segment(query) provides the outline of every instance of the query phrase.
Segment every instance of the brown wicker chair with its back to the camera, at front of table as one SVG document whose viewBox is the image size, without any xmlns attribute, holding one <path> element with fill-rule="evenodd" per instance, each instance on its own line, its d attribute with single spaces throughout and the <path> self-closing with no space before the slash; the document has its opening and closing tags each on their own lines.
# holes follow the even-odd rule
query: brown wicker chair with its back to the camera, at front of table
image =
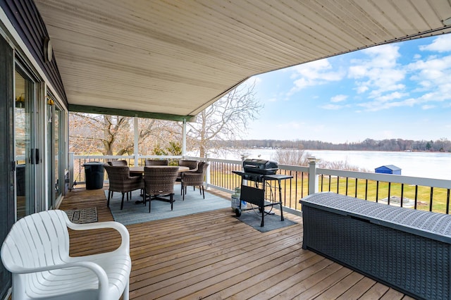
<svg viewBox="0 0 451 300">
<path fill-rule="evenodd" d="M 144 167 L 144 193 L 142 201 L 144 205 L 149 201 L 149 213 L 151 210 L 152 200 L 161 200 L 171 203 L 171 211 L 173 210 L 174 183 L 177 178 L 178 166 L 168 165 L 167 167 L 152 168 Z M 147 198 L 149 195 L 149 199 Z M 169 196 L 169 199 L 161 198 L 161 196 Z"/>
</svg>

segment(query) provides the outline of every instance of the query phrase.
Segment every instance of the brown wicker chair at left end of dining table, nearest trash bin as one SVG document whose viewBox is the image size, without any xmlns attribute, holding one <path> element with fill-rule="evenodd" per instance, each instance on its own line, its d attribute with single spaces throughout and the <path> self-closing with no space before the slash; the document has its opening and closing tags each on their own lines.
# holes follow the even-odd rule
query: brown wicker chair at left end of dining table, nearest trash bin
<svg viewBox="0 0 451 300">
<path fill-rule="evenodd" d="M 143 188 L 142 176 L 130 176 L 130 169 L 127 166 L 104 165 L 109 177 L 108 201 L 106 206 L 110 206 L 110 199 L 113 192 L 122 193 L 121 210 L 124 206 L 124 194 L 135 189 Z M 127 194 L 128 201 L 128 194 Z"/>
</svg>

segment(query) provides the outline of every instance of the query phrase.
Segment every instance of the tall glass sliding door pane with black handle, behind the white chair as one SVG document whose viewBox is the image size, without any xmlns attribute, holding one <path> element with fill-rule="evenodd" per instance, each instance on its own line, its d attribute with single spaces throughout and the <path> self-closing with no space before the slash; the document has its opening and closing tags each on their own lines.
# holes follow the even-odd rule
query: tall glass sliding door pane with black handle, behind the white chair
<svg viewBox="0 0 451 300">
<path fill-rule="evenodd" d="M 16 213 L 17 219 L 35 212 L 35 95 L 34 83 L 16 70 L 16 105 L 14 110 L 14 139 L 16 155 Z"/>
</svg>

